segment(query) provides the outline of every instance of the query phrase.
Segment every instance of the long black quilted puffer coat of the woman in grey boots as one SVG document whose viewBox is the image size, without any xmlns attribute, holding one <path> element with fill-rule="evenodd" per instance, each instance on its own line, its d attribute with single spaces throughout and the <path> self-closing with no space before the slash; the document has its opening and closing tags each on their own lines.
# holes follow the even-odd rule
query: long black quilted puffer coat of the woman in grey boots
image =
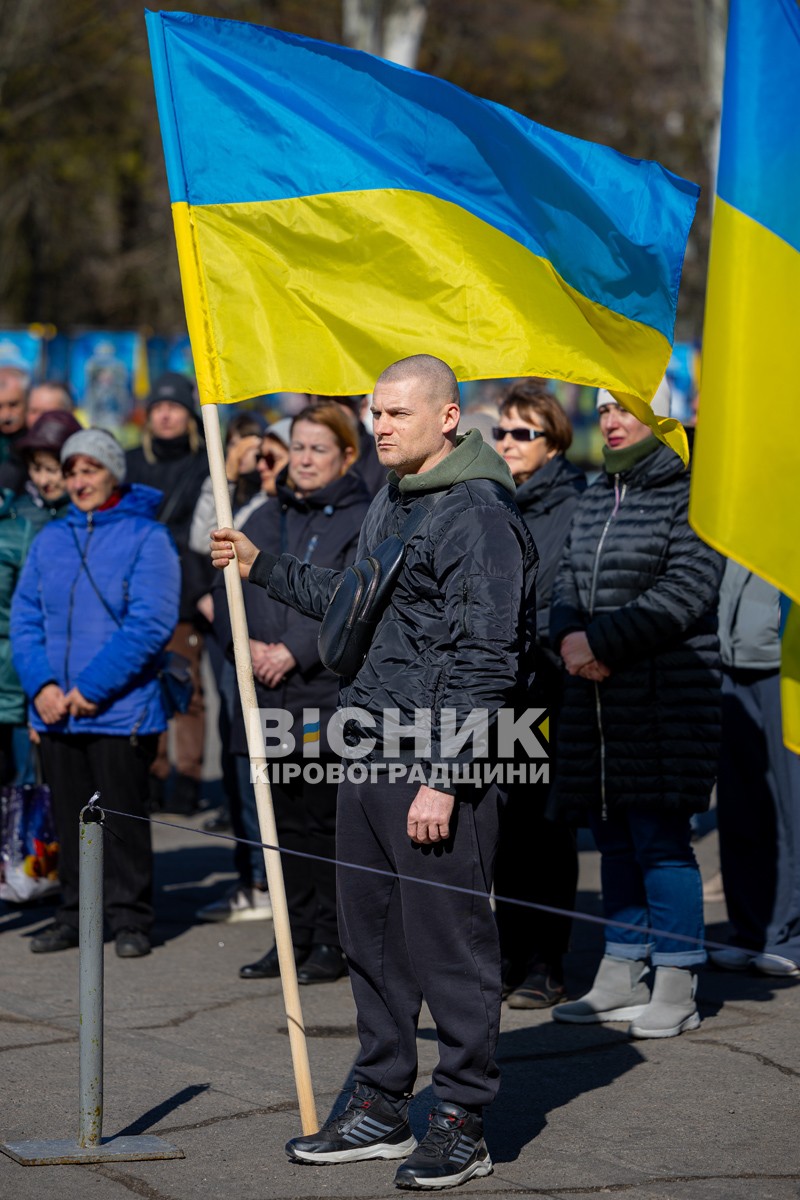
<svg viewBox="0 0 800 1200">
<path fill-rule="evenodd" d="M 666 446 L 583 494 L 555 580 L 551 640 L 571 630 L 612 674 L 566 676 L 557 811 L 708 808 L 720 745 L 716 605 L 723 559 L 688 526 L 688 473 Z"/>
</svg>

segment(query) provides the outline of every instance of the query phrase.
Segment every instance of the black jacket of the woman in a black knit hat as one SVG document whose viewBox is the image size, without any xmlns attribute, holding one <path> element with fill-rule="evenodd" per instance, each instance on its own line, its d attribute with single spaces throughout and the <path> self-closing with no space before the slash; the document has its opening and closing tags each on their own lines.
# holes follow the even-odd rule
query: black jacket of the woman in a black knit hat
<svg viewBox="0 0 800 1200">
<path fill-rule="evenodd" d="M 142 446 L 128 450 L 125 479 L 128 484 L 146 484 L 164 493 L 156 520 L 172 533 L 181 559 L 179 619 L 197 622 L 196 605 L 211 589 L 213 569 L 207 556 L 190 550 L 188 538 L 194 505 L 209 474 L 209 460 L 204 449 L 192 454 L 187 437 L 154 438 L 152 451 L 155 462 L 148 462 Z"/>
</svg>

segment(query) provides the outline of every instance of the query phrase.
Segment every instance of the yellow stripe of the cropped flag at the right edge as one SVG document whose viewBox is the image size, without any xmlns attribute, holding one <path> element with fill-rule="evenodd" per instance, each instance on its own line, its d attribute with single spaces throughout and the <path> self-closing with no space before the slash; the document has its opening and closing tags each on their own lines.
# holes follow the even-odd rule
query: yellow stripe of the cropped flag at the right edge
<svg viewBox="0 0 800 1200">
<path fill-rule="evenodd" d="M 717 199 L 690 518 L 800 601 L 800 253 Z"/>
</svg>

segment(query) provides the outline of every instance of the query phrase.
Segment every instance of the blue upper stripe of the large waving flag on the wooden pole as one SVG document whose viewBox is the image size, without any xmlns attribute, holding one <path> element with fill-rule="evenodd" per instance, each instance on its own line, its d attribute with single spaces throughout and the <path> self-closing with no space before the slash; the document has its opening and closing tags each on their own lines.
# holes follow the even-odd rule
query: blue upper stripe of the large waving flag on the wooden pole
<svg viewBox="0 0 800 1200">
<path fill-rule="evenodd" d="M 672 340 L 697 187 L 372 55 L 186 13 L 149 14 L 173 202 L 405 188 L 468 209 L 589 299 Z"/>
</svg>

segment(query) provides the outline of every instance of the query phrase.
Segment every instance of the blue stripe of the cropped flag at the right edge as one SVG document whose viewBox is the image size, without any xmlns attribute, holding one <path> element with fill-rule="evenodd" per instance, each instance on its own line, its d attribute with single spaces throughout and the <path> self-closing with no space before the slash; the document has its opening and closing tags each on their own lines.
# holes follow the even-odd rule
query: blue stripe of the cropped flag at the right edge
<svg viewBox="0 0 800 1200">
<path fill-rule="evenodd" d="M 733 0 L 717 193 L 800 251 L 800 7 Z"/>
</svg>

